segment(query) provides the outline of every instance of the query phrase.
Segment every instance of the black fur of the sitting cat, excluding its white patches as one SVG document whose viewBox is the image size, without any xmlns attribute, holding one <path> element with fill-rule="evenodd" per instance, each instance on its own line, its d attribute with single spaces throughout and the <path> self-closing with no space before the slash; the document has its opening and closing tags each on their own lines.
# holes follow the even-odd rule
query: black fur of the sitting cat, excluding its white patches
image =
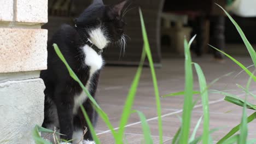
<svg viewBox="0 0 256 144">
<path fill-rule="evenodd" d="M 88 31 L 104 27 L 104 34 L 114 43 L 123 35 L 124 21 L 121 10 L 126 2 L 117 5 L 104 5 L 101 0 L 95 0 L 77 19 L 75 26 L 62 25 L 48 41 L 48 69 L 40 73 L 45 83 L 45 104 L 43 127 L 60 129 L 61 139 L 72 140 L 73 131 L 88 128 L 82 111 L 73 113 L 75 95 L 82 93 L 82 88 L 69 76 L 68 70 L 56 55 L 53 44 L 56 43 L 68 64 L 82 81 L 88 83 L 90 67 L 85 65 L 86 53 L 81 50 L 89 38 Z M 95 97 L 100 70 L 91 79 L 90 94 Z M 83 102 L 91 122 L 95 125 L 97 113 L 92 108 L 89 99 Z M 92 140 L 90 130 L 84 135 L 84 140 Z"/>
</svg>

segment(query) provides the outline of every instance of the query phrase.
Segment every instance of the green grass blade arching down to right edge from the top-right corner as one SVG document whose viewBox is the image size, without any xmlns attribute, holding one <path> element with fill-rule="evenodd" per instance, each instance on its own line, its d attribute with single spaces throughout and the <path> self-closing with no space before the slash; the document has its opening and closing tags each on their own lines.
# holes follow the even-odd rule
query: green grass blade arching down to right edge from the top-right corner
<svg viewBox="0 0 256 144">
<path fill-rule="evenodd" d="M 217 4 L 218 5 L 218 4 Z M 240 34 L 243 43 L 245 43 L 246 48 L 248 50 L 248 52 L 251 55 L 252 61 L 254 63 L 254 67 L 256 68 L 256 52 L 253 49 L 252 45 L 249 43 L 249 41 L 247 40 L 245 34 L 243 33 L 242 29 L 240 28 L 240 26 L 238 26 L 238 24 L 236 23 L 236 21 L 229 15 L 228 12 L 225 11 L 225 9 L 223 9 L 220 5 L 218 5 L 225 13 L 226 15 L 229 17 L 230 21 L 234 24 L 234 26 L 236 27 L 238 33 Z"/>
</svg>

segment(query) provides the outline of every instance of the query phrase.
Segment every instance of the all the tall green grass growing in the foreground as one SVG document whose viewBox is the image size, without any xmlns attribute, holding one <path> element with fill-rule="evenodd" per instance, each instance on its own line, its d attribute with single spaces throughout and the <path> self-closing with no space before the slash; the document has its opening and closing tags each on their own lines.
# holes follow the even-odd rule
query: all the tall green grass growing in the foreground
<svg viewBox="0 0 256 144">
<path fill-rule="evenodd" d="M 225 11 L 225 13 L 226 13 L 226 11 Z M 245 34 L 243 34 L 241 28 L 237 25 L 237 23 L 232 19 L 232 17 L 228 13 L 226 13 L 226 14 L 229 16 L 230 20 L 236 26 L 237 31 L 240 33 L 241 38 L 245 42 L 245 45 L 246 45 L 246 47 L 247 47 L 247 49 L 248 49 L 248 51 L 249 51 L 249 53 L 252 57 L 254 65 L 256 67 L 256 53 L 255 53 L 254 49 L 252 48 L 251 44 L 249 44 L 249 42 L 246 39 Z M 103 121 L 108 126 L 109 130 L 111 131 L 111 133 L 114 137 L 115 143 L 118 143 L 118 144 L 119 143 L 125 143 L 124 142 L 124 140 L 125 140 L 125 137 L 124 137 L 125 125 L 127 124 L 127 121 L 129 119 L 131 113 L 133 112 L 132 105 L 133 105 L 133 101 L 135 99 L 139 79 L 140 79 L 140 76 L 141 76 L 141 73 L 142 73 L 142 69 L 143 69 L 142 66 L 143 66 L 143 63 L 144 63 L 144 59 L 146 57 L 149 60 L 150 70 L 152 72 L 152 78 L 153 78 L 153 83 L 154 83 L 156 110 L 158 112 L 159 143 L 163 143 L 163 139 L 162 139 L 162 120 L 161 120 L 161 104 L 160 104 L 158 83 L 157 83 L 157 80 L 156 80 L 156 75 L 155 75 L 155 70 L 154 70 L 154 65 L 153 65 L 153 59 L 152 59 L 152 55 L 151 55 L 151 52 L 150 52 L 146 27 L 144 25 L 141 9 L 139 9 L 139 15 L 141 17 L 141 26 L 142 26 L 142 35 L 143 35 L 144 47 L 143 47 L 143 52 L 142 52 L 142 56 L 141 56 L 141 62 L 140 62 L 139 67 L 137 69 L 136 75 L 135 75 L 135 77 L 132 81 L 130 91 L 127 94 L 127 99 L 126 99 L 125 105 L 123 107 L 123 113 L 120 117 L 119 129 L 114 129 L 113 128 L 113 125 L 110 123 L 107 114 L 100 108 L 100 106 L 96 103 L 94 98 L 91 97 L 88 90 L 83 86 L 82 82 L 80 82 L 78 77 L 75 75 L 74 71 L 69 67 L 65 58 L 61 54 L 61 52 L 59 50 L 59 47 L 56 44 L 54 44 L 54 49 L 55 49 L 57 55 L 62 60 L 62 62 L 66 65 L 66 67 L 69 71 L 69 74 L 71 75 L 71 77 L 75 81 L 77 81 L 79 83 L 79 85 L 83 88 L 85 93 L 88 95 L 88 98 L 90 99 L 91 104 L 94 106 L 98 115 L 103 119 Z M 174 135 L 172 143 L 181 143 L 181 144 L 183 144 L 183 143 L 191 143 L 192 144 L 192 143 L 200 143 L 200 142 L 202 142 L 202 143 L 213 143 L 212 138 L 211 138 L 211 134 L 214 131 L 217 131 L 218 128 L 212 129 L 212 130 L 210 130 L 210 128 L 209 128 L 210 114 L 209 114 L 209 108 L 208 108 L 209 107 L 209 105 L 208 105 L 208 93 L 217 93 L 217 94 L 225 95 L 225 100 L 226 101 L 243 107 L 243 114 L 242 114 L 242 118 L 241 118 L 241 123 L 238 124 L 236 127 L 234 127 L 232 130 L 230 130 L 229 133 L 226 134 L 225 136 L 223 136 L 223 138 L 220 139 L 217 143 L 236 143 L 236 142 L 237 143 L 254 143 L 254 142 L 256 142 L 256 139 L 247 140 L 247 133 L 248 133 L 247 123 L 252 122 L 256 118 L 256 112 L 254 112 L 249 117 L 247 117 L 247 115 L 246 115 L 246 108 L 256 110 L 256 105 L 253 105 L 253 104 L 249 103 L 247 101 L 247 99 L 243 100 L 241 98 L 238 98 L 236 95 L 232 95 L 230 93 L 220 92 L 220 91 L 216 91 L 216 90 L 211 91 L 211 90 L 208 89 L 208 88 L 210 88 L 210 86 L 214 82 L 218 81 L 220 78 L 214 80 L 212 83 L 207 85 L 206 78 L 203 75 L 203 71 L 202 71 L 200 65 L 192 62 L 191 55 L 190 55 L 190 45 L 191 45 L 192 41 L 194 40 L 194 38 L 195 37 L 193 37 L 189 41 L 189 43 L 186 39 L 184 40 L 184 52 L 185 52 L 185 88 L 184 88 L 184 91 L 183 92 L 172 93 L 172 94 L 167 94 L 163 97 L 163 98 L 166 98 L 166 97 L 173 97 L 173 96 L 177 96 L 177 95 L 184 95 L 182 125 L 181 125 L 181 127 L 179 127 L 178 131 Z M 213 48 L 216 49 L 215 47 L 213 47 Z M 216 49 L 216 50 L 218 50 L 218 49 Z M 222 51 L 220 51 L 220 52 L 222 52 Z M 224 53 L 224 52 L 222 52 L 222 53 Z M 239 88 L 241 88 L 241 90 L 243 92 L 245 92 L 248 96 L 253 96 L 254 98 L 256 98 L 256 96 L 254 94 L 249 92 L 249 86 L 250 86 L 251 80 L 253 79 L 254 81 L 256 81 L 256 76 L 254 75 L 254 73 L 249 71 L 243 64 L 238 62 L 235 58 L 232 58 L 231 56 L 229 56 L 226 53 L 224 53 L 224 55 L 228 56 L 232 61 L 234 61 L 237 65 L 239 65 L 249 75 L 250 78 L 248 80 L 246 88 L 243 88 L 240 85 L 237 85 L 237 86 Z M 193 65 L 195 67 L 197 77 L 199 79 L 199 84 L 200 84 L 200 90 L 199 91 L 194 91 L 193 90 L 193 79 L 194 79 L 193 70 L 192 70 Z M 203 116 L 198 120 L 197 124 L 195 125 L 193 133 L 190 134 L 190 130 L 191 130 L 190 123 L 191 123 L 192 110 L 193 110 L 193 107 L 195 106 L 195 104 L 197 103 L 197 101 L 199 100 L 199 99 L 196 99 L 196 100 L 193 101 L 193 95 L 194 94 L 200 94 L 201 95 L 201 97 L 199 97 L 199 98 L 201 98 L 201 101 L 202 101 Z M 96 143 L 101 143 L 100 140 L 98 139 L 98 137 L 95 133 L 95 130 L 91 125 L 90 119 L 88 118 L 88 115 L 87 115 L 87 113 L 84 110 L 84 107 L 82 105 L 81 105 L 81 109 L 84 113 L 86 122 L 88 122 L 88 124 L 89 124 L 89 128 L 91 130 L 91 133 L 94 137 L 95 142 Z M 135 110 L 135 112 L 138 114 L 139 118 L 141 119 L 143 135 L 144 135 L 144 141 L 143 142 L 147 143 L 147 144 L 148 143 L 149 144 L 153 143 L 153 139 L 152 139 L 152 136 L 150 134 L 150 128 L 149 128 L 149 125 L 147 123 L 146 116 L 140 111 Z M 198 136 L 198 137 L 195 137 L 197 129 L 199 128 L 199 125 L 200 125 L 202 119 L 203 119 L 203 134 Z M 237 131 L 239 131 L 239 130 L 240 130 L 240 134 L 236 134 Z M 50 142 L 47 142 L 47 141 L 43 140 L 40 137 L 39 132 L 46 132 L 46 133 L 51 133 L 53 135 L 59 135 L 55 131 L 47 130 L 47 129 L 44 129 L 44 128 L 39 127 L 37 125 L 33 129 L 33 138 L 34 138 L 36 143 L 47 143 L 47 144 L 50 143 Z"/>
</svg>

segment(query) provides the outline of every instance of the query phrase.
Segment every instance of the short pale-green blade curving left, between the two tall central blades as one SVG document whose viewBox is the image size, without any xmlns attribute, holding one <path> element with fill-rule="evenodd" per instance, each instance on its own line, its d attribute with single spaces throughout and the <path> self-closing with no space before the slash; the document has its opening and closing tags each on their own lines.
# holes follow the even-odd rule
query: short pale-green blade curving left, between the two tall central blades
<svg viewBox="0 0 256 144">
<path fill-rule="evenodd" d="M 140 111 L 136 111 L 136 112 L 138 113 L 139 118 L 141 119 L 141 125 L 142 125 L 143 134 L 144 134 L 144 142 L 147 144 L 153 144 L 150 129 L 149 129 L 145 115 Z"/>
</svg>

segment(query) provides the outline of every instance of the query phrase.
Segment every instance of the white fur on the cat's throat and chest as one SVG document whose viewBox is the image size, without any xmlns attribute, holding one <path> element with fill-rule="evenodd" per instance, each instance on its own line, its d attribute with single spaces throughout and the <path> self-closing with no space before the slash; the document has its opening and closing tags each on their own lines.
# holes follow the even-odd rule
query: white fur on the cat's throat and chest
<svg viewBox="0 0 256 144">
<path fill-rule="evenodd" d="M 104 36 L 105 35 L 104 31 L 102 31 L 100 27 L 96 29 L 92 29 L 89 32 L 89 35 L 92 43 L 94 43 L 99 49 L 103 49 L 109 43 L 108 39 Z M 81 49 L 83 50 L 85 55 L 85 59 L 84 59 L 85 65 L 88 65 L 90 67 L 89 80 L 85 85 L 87 89 L 90 89 L 90 86 L 94 84 L 94 83 L 91 83 L 92 76 L 94 76 L 94 73 L 97 70 L 102 68 L 104 61 L 102 59 L 102 56 L 98 55 L 98 53 L 94 49 L 92 49 L 90 46 L 84 45 L 83 47 L 81 47 Z M 77 110 L 80 104 L 84 103 L 86 98 L 87 98 L 87 95 L 84 92 L 75 96 L 74 109 L 73 109 L 74 114 L 77 113 Z"/>
</svg>

